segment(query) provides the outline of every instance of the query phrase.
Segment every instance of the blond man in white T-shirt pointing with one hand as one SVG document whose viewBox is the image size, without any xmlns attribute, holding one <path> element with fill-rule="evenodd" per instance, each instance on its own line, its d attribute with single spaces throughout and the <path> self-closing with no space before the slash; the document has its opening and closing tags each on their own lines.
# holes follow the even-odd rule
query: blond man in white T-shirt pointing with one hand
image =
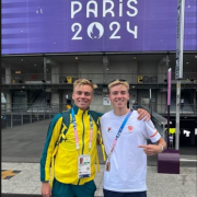
<svg viewBox="0 0 197 197">
<path fill-rule="evenodd" d="M 129 84 L 115 80 L 108 84 L 113 111 L 101 118 L 107 153 L 104 197 L 147 197 L 147 154 L 162 152 L 165 141 L 152 121 L 138 120 L 137 111 L 127 108 Z M 150 139 L 155 144 L 147 144 Z"/>
</svg>

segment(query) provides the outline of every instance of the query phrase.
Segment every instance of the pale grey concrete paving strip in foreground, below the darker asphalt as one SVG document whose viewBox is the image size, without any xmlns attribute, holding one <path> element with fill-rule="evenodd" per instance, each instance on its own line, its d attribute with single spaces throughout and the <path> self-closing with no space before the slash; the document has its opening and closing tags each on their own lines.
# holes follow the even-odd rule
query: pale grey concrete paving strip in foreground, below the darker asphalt
<svg viewBox="0 0 197 197">
<path fill-rule="evenodd" d="M 40 195 L 39 164 L 38 163 L 10 163 L 2 162 L 2 170 L 13 170 L 19 173 L 10 179 L 2 179 L 2 193 Z M 103 171 L 96 174 L 95 196 L 103 196 Z M 196 197 L 195 167 L 181 167 L 179 174 L 159 174 L 157 166 L 148 166 L 147 185 L 148 197 Z"/>
</svg>

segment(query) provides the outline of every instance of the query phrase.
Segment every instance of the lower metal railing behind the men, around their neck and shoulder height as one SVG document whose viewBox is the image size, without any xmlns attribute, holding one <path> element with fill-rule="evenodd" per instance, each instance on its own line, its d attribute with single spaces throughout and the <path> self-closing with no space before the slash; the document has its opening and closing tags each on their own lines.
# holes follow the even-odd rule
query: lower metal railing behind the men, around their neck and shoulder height
<svg viewBox="0 0 197 197">
<path fill-rule="evenodd" d="M 10 107 L 8 107 L 10 106 Z M 12 107 L 14 106 L 14 107 Z M 157 113 L 160 115 L 167 115 L 166 104 L 142 104 L 144 108 L 149 108 L 150 113 Z M 181 106 L 179 106 L 181 107 Z M 2 103 L 1 104 L 1 128 L 13 127 L 18 125 L 30 124 L 39 121 L 43 119 L 50 119 L 55 114 L 67 111 L 67 104 L 39 104 L 34 105 L 32 103 Z M 105 112 L 101 112 L 105 113 Z M 171 105 L 171 115 L 176 114 L 176 106 Z M 197 105 L 185 104 L 181 107 L 181 116 L 195 115 L 197 116 Z"/>
</svg>

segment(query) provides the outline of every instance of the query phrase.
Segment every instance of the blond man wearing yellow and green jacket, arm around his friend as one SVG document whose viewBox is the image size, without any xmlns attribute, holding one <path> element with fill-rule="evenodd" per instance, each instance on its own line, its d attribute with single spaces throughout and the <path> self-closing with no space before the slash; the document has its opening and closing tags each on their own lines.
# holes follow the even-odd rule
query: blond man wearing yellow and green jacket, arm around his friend
<svg viewBox="0 0 197 197">
<path fill-rule="evenodd" d="M 97 124 L 102 116 L 90 111 L 94 89 L 95 84 L 86 79 L 74 81 L 74 106 L 67 112 L 69 126 L 65 124 L 65 113 L 57 114 L 50 121 L 40 159 L 44 197 L 94 196 L 96 138 L 100 134 Z M 149 116 L 143 109 L 139 109 L 139 118 Z"/>
</svg>

